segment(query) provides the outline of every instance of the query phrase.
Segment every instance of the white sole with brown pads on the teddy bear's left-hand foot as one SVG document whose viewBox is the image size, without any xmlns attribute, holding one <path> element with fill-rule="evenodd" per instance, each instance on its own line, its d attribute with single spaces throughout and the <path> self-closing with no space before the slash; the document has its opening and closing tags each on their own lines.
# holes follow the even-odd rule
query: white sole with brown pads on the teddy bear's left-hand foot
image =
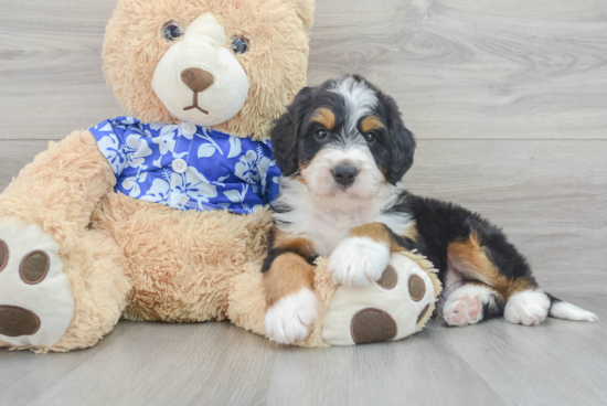
<svg viewBox="0 0 607 406">
<path fill-rule="evenodd" d="M 58 244 L 40 227 L 0 221 L 0 341 L 50 346 L 74 314 Z"/>
</svg>

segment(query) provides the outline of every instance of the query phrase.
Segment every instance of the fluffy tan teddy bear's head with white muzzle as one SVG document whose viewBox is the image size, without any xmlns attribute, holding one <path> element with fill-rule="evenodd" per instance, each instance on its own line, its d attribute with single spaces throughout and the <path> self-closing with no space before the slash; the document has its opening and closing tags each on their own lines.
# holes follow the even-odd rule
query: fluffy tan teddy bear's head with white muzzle
<svg viewBox="0 0 607 406">
<path fill-rule="evenodd" d="M 119 0 L 104 70 L 145 122 L 266 139 L 306 85 L 313 0 Z"/>
</svg>

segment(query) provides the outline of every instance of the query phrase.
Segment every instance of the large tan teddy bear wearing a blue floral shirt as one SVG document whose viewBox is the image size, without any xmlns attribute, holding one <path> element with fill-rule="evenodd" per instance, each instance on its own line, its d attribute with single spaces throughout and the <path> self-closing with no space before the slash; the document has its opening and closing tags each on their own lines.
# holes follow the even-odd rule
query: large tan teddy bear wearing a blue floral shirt
<svg viewBox="0 0 607 406">
<path fill-rule="evenodd" d="M 120 318 L 265 334 L 268 135 L 306 85 L 312 17 L 313 0 L 118 1 L 104 72 L 130 116 L 51 142 L 0 195 L 0 346 L 85 349 Z M 402 339 L 440 290 L 416 253 L 363 289 L 326 265 L 297 345 Z"/>
</svg>

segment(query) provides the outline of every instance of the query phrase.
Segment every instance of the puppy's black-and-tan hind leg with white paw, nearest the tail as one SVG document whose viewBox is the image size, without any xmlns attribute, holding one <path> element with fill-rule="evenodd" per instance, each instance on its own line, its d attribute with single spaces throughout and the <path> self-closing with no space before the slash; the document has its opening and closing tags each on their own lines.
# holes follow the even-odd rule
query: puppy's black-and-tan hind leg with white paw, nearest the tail
<svg viewBox="0 0 607 406">
<path fill-rule="evenodd" d="M 507 321 L 540 324 L 547 317 L 551 302 L 547 295 L 539 289 L 524 258 L 505 242 L 503 235 L 482 239 L 473 229 L 467 238 L 449 244 L 449 268 L 500 293 L 505 301 L 503 314 Z"/>
</svg>

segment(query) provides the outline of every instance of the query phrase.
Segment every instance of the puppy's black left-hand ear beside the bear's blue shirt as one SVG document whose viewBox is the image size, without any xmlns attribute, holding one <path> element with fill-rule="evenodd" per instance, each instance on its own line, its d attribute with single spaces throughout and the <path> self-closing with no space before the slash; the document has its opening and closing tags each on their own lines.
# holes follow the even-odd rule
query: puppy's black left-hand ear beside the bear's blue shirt
<svg viewBox="0 0 607 406">
<path fill-rule="evenodd" d="M 305 87 L 280 118 L 274 121 L 270 133 L 274 158 L 283 175 L 290 177 L 299 169 L 298 145 L 301 120 L 307 111 L 311 87 Z"/>
</svg>

